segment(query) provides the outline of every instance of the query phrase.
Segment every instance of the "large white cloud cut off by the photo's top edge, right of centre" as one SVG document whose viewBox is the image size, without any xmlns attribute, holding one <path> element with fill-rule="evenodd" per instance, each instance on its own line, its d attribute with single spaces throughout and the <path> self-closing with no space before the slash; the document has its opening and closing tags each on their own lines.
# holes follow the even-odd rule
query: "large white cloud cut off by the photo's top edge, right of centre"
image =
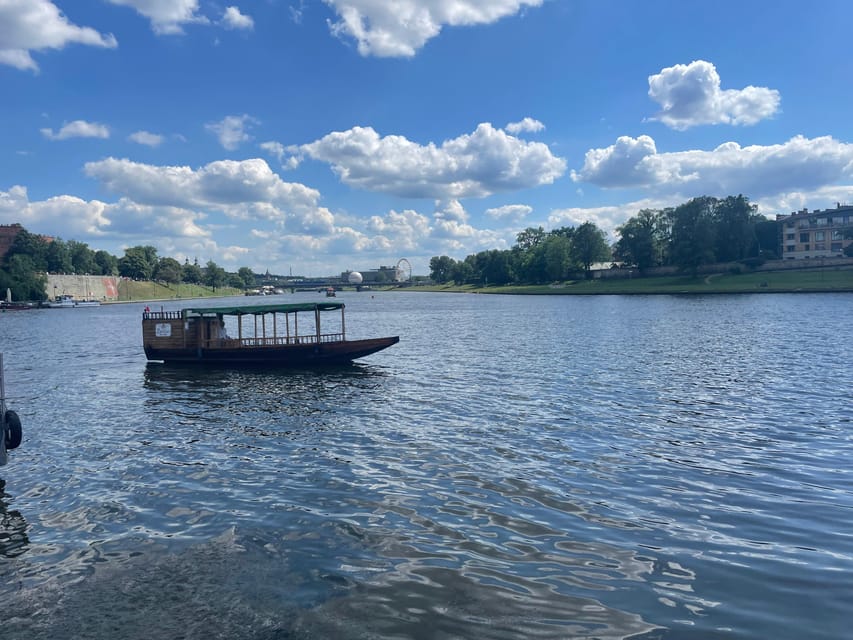
<svg viewBox="0 0 853 640">
<path fill-rule="evenodd" d="M 490 24 L 543 0 L 324 0 L 338 14 L 336 36 L 353 38 L 363 56 L 411 57 L 444 25 Z"/>
</svg>

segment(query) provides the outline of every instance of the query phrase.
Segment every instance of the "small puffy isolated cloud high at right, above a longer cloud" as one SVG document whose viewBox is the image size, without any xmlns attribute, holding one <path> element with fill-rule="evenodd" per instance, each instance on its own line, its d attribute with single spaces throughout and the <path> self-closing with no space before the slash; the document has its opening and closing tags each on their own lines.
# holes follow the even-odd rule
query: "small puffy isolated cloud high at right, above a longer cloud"
<svg viewBox="0 0 853 640">
<path fill-rule="evenodd" d="M 649 76 L 649 97 L 662 107 L 652 119 L 678 130 L 702 124 L 752 125 L 775 114 L 780 101 L 779 92 L 766 87 L 721 89 L 716 67 L 704 60 Z"/>
</svg>

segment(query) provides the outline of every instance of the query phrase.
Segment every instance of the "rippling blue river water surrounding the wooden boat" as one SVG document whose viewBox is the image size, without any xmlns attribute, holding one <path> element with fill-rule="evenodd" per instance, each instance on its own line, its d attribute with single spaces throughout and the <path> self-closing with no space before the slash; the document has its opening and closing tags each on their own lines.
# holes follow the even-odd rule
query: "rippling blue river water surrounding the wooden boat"
<svg viewBox="0 0 853 640">
<path fill-rule="evenodd" d="M 143 303 L 0 314 L 0 638 L 849 637 L 850 294 L 338 299 L 399 344 L 204 370 Z"/>
</svg>

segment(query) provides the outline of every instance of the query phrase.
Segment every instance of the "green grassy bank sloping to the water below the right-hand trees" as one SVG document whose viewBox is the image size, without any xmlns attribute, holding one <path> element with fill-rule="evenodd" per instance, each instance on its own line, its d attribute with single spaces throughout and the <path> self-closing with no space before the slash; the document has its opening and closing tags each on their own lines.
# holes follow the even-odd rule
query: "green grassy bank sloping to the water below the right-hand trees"
<svg viewBox="0 0 853 640">
<path fill-rule="evenodd" d="M 682 275 L 618 280 L 569 280 L 550 285 L 435 285 L 411 287 L 408 290 L 519 295 L 853 292 L 853 268 L 720 273 L 695 278 Z"/>
</svg>

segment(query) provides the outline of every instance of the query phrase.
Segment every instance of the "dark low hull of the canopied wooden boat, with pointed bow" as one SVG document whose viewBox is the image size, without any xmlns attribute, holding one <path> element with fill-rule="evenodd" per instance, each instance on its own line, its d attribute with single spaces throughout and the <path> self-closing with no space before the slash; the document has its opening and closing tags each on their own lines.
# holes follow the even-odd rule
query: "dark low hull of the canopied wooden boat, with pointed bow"
<svg viewBox="0 0 853 640">
<path fill-rule="evenodd" d="M 210 363 L 217 365 L 274 365 L 305 367 L 323 364 L 342 364 L 381 351 L 400 341 L 399 336 L 341 340 L 321 344 L 277 345 L 261 347 L 215 348 L 157 348 L 145 344 L 148 360 L 181 363 Z"/>
</svg>

